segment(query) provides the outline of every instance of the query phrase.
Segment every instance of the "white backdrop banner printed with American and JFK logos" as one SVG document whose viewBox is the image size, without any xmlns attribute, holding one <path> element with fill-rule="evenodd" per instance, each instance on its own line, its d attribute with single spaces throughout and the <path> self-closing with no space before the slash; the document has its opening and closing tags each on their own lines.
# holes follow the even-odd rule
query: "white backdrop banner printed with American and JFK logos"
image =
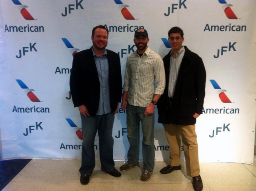
<svg viewBox="0 0 256 191">
<path fill-rule="evenodd" d="M 136 51 L 135 30 L 145 28 L 148 46 L 163 58 L 171 49 L 168 30 L 182 28 L 183 44 L 202 57 L 207 73 L 196 123 L 200 161 L 253 164 L 255 10 L 254 0 L 0 0 L 1 158 L 80 159 L 81 119 L 70 96 L 70 70 L 73 55 L 92 46 L 92 28 L 102 24 L 123 77 L 128 54 Z M 156 160 L 168 161 L 155 111 Z M 127 159 L 121 108 L 113 137 L 114 159 Z M 99 159 L 98 137 L 95 150 Z"/>
</svg>

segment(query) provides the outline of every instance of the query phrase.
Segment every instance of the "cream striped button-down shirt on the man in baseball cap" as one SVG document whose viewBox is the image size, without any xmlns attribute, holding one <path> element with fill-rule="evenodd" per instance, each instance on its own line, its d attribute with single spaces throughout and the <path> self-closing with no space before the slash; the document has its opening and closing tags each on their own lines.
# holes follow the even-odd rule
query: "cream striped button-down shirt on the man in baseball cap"
<svg viewBox="0 0 256 191">
<path fill-rule="evenodd" d="M 130 105 L 147 107 L 154 94 L 162 95 L 164 88 L 164 63 L 158 54 L 148 47 L 142 56 L 137 52 L 128 56 L 124 91 L 128 91 Z"/>
</svg>

